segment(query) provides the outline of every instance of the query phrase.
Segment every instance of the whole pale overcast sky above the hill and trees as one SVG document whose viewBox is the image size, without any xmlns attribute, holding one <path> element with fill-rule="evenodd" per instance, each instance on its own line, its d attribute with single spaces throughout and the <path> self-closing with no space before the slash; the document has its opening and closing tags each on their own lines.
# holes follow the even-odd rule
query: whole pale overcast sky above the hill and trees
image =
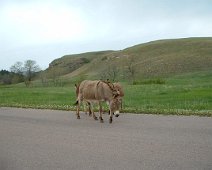
<svg viewBox="0 0 212 170">
<path fill-rule="evenodd" d="M 184 37 L 212 37 L 212 0 L 0 1 L 0 70 Z"/>
</svg>

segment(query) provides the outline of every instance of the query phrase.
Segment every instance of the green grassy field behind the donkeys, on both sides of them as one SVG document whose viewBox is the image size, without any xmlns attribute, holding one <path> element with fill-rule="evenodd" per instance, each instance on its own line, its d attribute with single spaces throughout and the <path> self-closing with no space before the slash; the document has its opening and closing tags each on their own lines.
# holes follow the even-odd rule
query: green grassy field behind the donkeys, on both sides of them
<svg viewBox="0 0 212 170">
<path fill-rule="evenodd" d="M 212 71 L 187 73 L 137 85 L 122 82 L 123 112 L 212 116 Z M 149 83 L 148 83 L 149 82 Z M 0 87 L 0 106 L 75 110 L 74 84 L 64 87 Z"/>
</svg>

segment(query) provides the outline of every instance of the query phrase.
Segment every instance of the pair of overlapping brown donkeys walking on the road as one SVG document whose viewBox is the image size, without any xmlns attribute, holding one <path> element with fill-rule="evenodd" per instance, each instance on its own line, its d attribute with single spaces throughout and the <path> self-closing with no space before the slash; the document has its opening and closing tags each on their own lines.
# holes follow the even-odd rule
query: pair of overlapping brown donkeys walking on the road
<svg viewBox="0 0 212 170">
<path fill-rule="evenodd" d="M 102 102 L 106 102 L 109 106 L 110 119 L 109 122 L 113 121 L 113 114 L 120 112 L 122 105 L 122 97 L 124 96 L 123 89 L 119 83 L 110 83 L 108 81 L 101 80 L 84 80 L 79 85 L 76 85 L 77 95 L 77 119 L 80 119 L 80 104 L 85 102 L 89 105 L 92 103 L 99 104 L 99 119 L 103 122 L 102 118 Z M 92 111 L 93 118 L 98 120 L 95 113 Z"/>
</svg>

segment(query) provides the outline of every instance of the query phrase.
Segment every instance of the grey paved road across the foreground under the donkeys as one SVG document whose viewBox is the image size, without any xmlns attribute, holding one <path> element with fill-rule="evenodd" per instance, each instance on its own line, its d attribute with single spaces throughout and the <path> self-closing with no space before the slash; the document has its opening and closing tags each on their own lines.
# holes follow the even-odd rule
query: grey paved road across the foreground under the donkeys
<svg viewBox="0 0 212 170">
<path fill-rule="evenodd" d="M 0 170 L 211 170 L 212 118 L 0 108 Z"/>
</svg>

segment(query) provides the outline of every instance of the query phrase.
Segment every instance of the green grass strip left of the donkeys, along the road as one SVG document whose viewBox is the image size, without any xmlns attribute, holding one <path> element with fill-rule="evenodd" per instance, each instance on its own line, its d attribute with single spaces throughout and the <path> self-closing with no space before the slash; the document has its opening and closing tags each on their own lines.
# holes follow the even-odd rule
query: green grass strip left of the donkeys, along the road
<svg viewBox="0 0 212 170">
<path fill-rule="evenodd" d="M 0 88 L 0 106 L 72 110 L 74 88 L 68 87 L 16 87 Z"/>
</svg>

